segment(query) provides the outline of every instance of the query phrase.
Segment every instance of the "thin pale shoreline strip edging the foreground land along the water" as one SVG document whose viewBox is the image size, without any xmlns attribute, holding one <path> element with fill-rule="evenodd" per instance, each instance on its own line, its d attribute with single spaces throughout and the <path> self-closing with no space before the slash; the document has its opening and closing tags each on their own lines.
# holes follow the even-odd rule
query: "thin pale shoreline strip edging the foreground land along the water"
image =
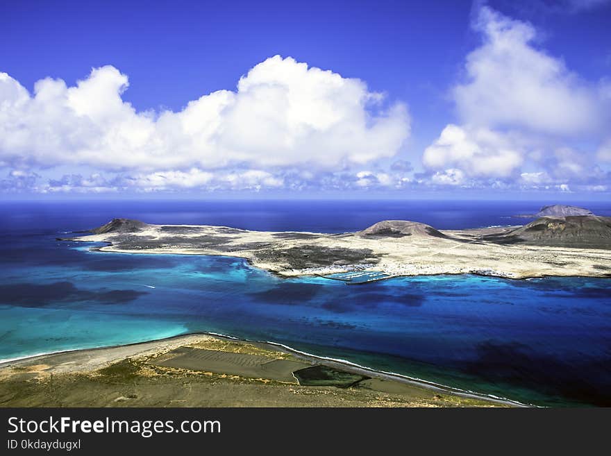
<svg viewBox="0 0 611 456">
<path fill-rule="evenodd" d="M 494 395 L 478 393 L 476 391 L 463 390 L 463 389 L 459 389 L 455 387 L 450 387 L 448 385 L 442 385 L 439 383 L 430 382 L 428 380 L 424 380 L 421 378 L 413 378 L 413 377 L 410 377 L 409 375 L 403 375 L 401 373 L 381 371 L 381 370 L 373 369 L 369 366 L 362 366 L 360 364 L 356 364 L 348 360 L 342 360 L 342 359 L 333 358 L 333 357 L 325 357 L 321 355 L 314 355 L 312 353 L 299 351 L 296 348 L 292 348 L 291 346 L 287 346 L 285 344 L 281 344 L 281 343 L 274 342 L 274 341 L 258 341 L 258 340 L 251 340 L 251 339 L 240 339 L 238 337 L 219 334 L 217 332 L 202 332 L 202 331 L 188 332 L 188 333 L 184 333 L 181 335 L 162 337 L 160 339 L 151 339 L 151 340 L 140 341 L 140 342 L 131 342 L 128 344 L 118 344 L 118 345 L 112 345 L 112 346 L 97 346 L 93 348 L 73 348 L 73 349 L 54 351 L 54 352 L 49 352 L 49 353 L 39 353 L 39 354 L 28 355 L 24 357 L 16 357 L 16 358 L 8 359 L 8 360 L 0 360 L 0 369 L 10 367 L 13 364 L 22 364 L 22 363 L 44 360 L 47 357 L 52 357 L 55 355 L 64 355 L 64 354 L 76 355 L 78 353 L 83 354 L 87 352 L 110 351 L 115 348 L 128 348 L 128 347 L 137 347 L 137 346 L 144 346 L 144 345 L 150 345 L 150 344 L 163 344 L 165 342 L 177 342 L 177 341 L 180 341 L 180 339 L 187 339 L 189 337 L 194 337 L 194 336 L 195 337 L 196 336 L 210 336 L 210 337 L 214 337 L 214 338 L 221 339 L 221 340 L 237 341 L 237 342 L 246 343 L 246 344 L 263 344 L 265 346 L 271 346 L 273 348 L 280 349 L 281 351 L 284 351 L 285 353 L 288 353 L 290 355 L 295 355 L 296 357 L 302 358 L 303 360 L 316 361 L 316 362 L 323 363 L 326 366 L 336 367 L 336 368 L 338 367 L 338 368 L 344 369 L 351 373 L 358 373 L 361 375 L 371 375 L 372 378 L 378 378 L 382 380 L 391 380 L 394 382 L 401 382 L 407 385 L 421 387 L 421 388 L 428 389 L 431 391 L 438 391 L 438 392 L 442 392 L 445 394 L 451 394 L 453 396 L 459 396 L 462 398 L 484 400 L 489 403 L 495 403 L 495 404 L 505 405 L 505 406 L 510 406 L 510 407 L 537 407 L 536 405 L 533 405 L 533 404 L 520 403 L 517 400 L 512 400 L 509 398 L 502 398 L 502 397 L 498 397 Z"/>
</svg>

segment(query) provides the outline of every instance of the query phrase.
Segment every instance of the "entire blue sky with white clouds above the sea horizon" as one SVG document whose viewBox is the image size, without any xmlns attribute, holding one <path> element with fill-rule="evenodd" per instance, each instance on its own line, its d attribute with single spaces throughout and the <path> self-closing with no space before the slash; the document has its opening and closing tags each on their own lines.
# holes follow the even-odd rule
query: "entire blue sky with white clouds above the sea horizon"
<svg viewBox="0 0 611 456">
<path fill-rule="evenodd" d="M 0 2 L 0 198 L 609 199 L 611 1 Z"/>
</svg>

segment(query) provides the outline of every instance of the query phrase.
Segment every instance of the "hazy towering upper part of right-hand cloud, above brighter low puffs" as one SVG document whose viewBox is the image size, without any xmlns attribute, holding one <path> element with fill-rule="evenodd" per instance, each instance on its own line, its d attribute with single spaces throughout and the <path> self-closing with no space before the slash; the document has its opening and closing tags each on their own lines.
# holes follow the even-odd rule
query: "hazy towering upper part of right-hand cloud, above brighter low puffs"
<svg viewBox="0 0 611 456">
<path fill-rule="evenodd" d="M 562 60 L 537 49 L 533 26 L 483 7 L 474 29 L 483 44 L 467 56 L 467 81 L 453 89 L 465 124 L 559 135 L 605 126 L 608 106 L 598 85 L 580 81 Z"/>
</svg>

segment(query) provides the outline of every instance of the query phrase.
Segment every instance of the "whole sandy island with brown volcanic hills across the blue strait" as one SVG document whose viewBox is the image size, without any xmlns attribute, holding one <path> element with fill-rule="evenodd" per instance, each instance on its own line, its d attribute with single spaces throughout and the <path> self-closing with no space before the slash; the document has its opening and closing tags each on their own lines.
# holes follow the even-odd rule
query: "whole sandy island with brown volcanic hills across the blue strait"
<svg viewBox="0 0 611 456">
<path fill-rule="evenodd" d="M 545 208 L 544 208 L 545 209 Z M 562 213 L 562 211 L 560 211 Z M 355 233 L 253 231 L 113 219 L 76 237 L 99 251 L 242 257 L 280 276 L 367 282 L 396 276 L 611 277 L 611 217 L 548 215 L 524 226 L 437 230 L 385 220 Z"/>
</svg>

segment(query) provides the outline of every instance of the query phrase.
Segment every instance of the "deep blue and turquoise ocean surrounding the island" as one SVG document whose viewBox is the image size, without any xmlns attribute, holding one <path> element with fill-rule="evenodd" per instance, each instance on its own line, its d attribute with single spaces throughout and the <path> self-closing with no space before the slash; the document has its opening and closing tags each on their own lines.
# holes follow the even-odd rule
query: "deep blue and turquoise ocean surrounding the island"
<svg viewBox="0 0 611 456">
<path fill-rule="evenodd" d="M 0 360 L 217 332 L 535 405 L 611 405 L 611 279 L 283 279 L 244 260 L 90 251 L 113 217 L 342 233 L 383 219 L 526 223 L 545 202 L 0 203 Z M 611 215 L 611 203 L 580 203 Z M 153 288 L 154 287 L 154 288 Z"/>
</svg>

